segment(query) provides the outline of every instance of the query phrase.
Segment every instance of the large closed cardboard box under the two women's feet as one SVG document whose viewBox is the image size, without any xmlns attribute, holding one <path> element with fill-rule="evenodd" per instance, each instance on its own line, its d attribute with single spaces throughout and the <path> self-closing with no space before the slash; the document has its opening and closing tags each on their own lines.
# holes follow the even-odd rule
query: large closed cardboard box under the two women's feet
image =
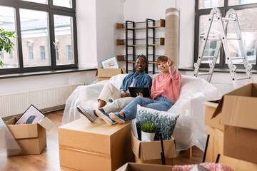
<svg viewBox="0 0 257 171">
<path fill-rule="evenodd" d="M 74 120 L 59 127 L 60 165 L 77 170 L 116 170 L 133 158 L 131 122 L 107 125 L 97 119 Z"/>
</svg>

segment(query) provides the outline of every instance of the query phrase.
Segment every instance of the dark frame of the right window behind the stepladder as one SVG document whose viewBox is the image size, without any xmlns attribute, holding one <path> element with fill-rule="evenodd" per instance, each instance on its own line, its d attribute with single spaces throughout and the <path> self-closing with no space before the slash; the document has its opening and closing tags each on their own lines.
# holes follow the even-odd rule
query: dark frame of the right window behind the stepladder
<svg viewBox="0 0 257 171">
<path fill-rule="evenodd" d="M 200 17 L 202 15 L 209 15 L 211 12 L 211 9 L 198 9 L 198 1 L 196 0 L 195 4 L 195 37 L 194 37 L 194 57 L 193 57 L 193 63 L 197 62 L 198 59 L 198 48 L 199 48 L 199 24 L 200 24 Z M 234 5 L 234 6 L 228 6 L 229 0 L 224 0 L 224 6 L 218 7 L 218 9 L 221 10 L 222 16 L 225 17 L 226 12 L 229 9 L 235 9 L 237 10 L 243 10 L 243 9 L 257 9 L 257 3 L 254 4 L 242 4 L 242 5 Z M 207 21 L 206 21 L 207 22 Z M 226 56 L 225 52 L 223 50 L 223 46 L 221 44 L 221 50 L 220 50 L 220 63 L 216 63 L 215 68 L 228 68 L 228 65 L 226 64 Z M 242 64 L 234 64 L 238 69 L 244 68 Z M 256 53 L 256 64 L 252 64 L 252 69 L 257 69 L 257 53 Z M 208 63 L 201 63 L 200 68 L 209 68 Z"/>
</svg>

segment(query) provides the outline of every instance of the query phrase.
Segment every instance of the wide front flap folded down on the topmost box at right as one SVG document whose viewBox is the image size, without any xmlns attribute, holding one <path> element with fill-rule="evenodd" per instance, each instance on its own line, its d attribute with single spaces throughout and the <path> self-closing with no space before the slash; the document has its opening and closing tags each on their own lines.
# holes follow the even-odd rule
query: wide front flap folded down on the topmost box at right
<svg viewBox="0 0 257 171">
<path fill-rule="evenodd" d="M 257 98 L 225 95 L 221 124 L 257 130 Z"/>
</svg>

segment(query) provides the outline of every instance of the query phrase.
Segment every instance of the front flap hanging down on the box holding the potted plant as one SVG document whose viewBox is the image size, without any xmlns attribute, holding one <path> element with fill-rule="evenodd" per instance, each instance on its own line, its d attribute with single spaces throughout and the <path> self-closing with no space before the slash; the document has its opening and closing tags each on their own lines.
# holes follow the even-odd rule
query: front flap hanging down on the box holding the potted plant
<svg viewBox="0 0 257 171">
<path fill-rule="evenodd" d="M 166 158 L 176 157 L 174 138 L 163 140 L 164 154 Z M 161 141 L 141 142 L 143 160 L 161 159 Z"/>
</svg>

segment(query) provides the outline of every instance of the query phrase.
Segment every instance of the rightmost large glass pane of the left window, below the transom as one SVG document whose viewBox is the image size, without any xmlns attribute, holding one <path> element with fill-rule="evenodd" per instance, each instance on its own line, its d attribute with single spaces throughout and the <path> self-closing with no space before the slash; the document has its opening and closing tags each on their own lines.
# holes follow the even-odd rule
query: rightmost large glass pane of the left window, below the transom
<svg viewBox="0 0 257 171">
<path fill-rule="evenodd" d="M 56 65 L 74 64 L 72 17 L 54 15 Z"/>
</svg>

